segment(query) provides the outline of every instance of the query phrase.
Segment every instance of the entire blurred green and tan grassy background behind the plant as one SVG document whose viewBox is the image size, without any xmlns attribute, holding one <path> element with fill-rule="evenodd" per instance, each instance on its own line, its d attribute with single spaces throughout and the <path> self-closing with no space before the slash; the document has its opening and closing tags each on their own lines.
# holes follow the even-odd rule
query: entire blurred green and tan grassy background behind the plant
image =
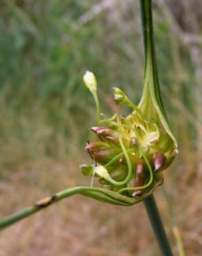
<svg viewBox="0 0 202 256">
<path fill-rule="evenodd" d="M 202 1 L 154 0 L 163 102 L 180 155 L 155 192 L 178 255 L 202 255 Z M 111 87 L 138 103 L 143 42 L 137 0 L 1 0 L 0 216 L 74 185 L 95 124 L 86 70 L 102 111 L 117 109 Z M 126 109 L 127 113 L 128 109 Z M 2 256 L 159 255 L 143 203 L 117 207 L 73 196 L 0 234 Z"/>
</svg>

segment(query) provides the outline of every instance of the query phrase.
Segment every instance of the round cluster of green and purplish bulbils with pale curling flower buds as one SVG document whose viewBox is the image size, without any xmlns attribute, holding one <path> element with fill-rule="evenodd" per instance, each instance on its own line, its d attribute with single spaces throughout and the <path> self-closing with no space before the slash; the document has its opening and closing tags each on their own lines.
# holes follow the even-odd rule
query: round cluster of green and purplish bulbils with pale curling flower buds
<svg viewBox="0 0 202 256">
<path fill-rule="evenodd" d="M 112 118 L 100 119 L 97 82 L 93 73 L 87 71 L 84 82 L 95 98 L 98 125 L 91 127 L 91 131 L 99 140 L 86 144 L 85 149 L 94 163 L 80 165 L 82 173 L 99 177 L 102 188 L 125 196 L 149 194 L 156 185 L 163 183 L 161 171 L 171 165 L 178 153 L 174 140 L 159 117 L 146 120 L 148 115 L 141 107 L 134 105 L 116 87 L 113 87 L 116 104 L 126 104 L 133 111 L 125 118 L 115 114 Z"/>
</svg>

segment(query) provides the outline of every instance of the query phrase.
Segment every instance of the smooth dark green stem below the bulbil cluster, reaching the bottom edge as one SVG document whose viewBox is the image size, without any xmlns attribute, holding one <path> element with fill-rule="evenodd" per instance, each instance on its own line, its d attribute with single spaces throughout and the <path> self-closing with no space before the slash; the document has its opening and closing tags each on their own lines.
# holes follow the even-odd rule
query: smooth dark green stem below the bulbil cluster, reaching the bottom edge
<svg viewBox="0 0 202 256">
<path fill-rule="evenodd" d="M 147 210 L 147 214 L 149 216 L 149 221 L 152 225 L 152 229 L 156 236 L 156 240 L 158 241 L 161 255 L 173 256 L 172 250 L 169 246 L 169 241 L 167 239 L 167 235 L 165 233 L 165 229 L 163 227 L 163 223 L 160 219 L 160 214 L 158 212 L 158 208 L 156 205 L 156 201 L 154 199 L 154 195 L 153 194 L 149 195 L 143 202 L 144 202 L 145 208 Z"/>
</svg>

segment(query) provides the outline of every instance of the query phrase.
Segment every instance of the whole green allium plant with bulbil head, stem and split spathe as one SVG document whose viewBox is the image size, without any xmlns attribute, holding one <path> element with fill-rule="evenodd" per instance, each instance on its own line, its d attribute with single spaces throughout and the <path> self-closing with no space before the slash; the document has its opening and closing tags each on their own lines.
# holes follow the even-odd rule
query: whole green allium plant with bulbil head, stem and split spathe
<svg viewBox="0 0 202 256">
<path fill-rule="evenodd" d="M 152 192 L 163 183 L 165 170 L 176 154 L 177 142 L 163 107 L 158 82 L 158 70 L 152 28 L 152 1 L 140 1 L 145 46 L 145 71 L 143 95 L 136 106 L 125 93 L 113 87 L 116 104 L 125 104 L 133 111 L 125 118 L 115 113 L 111 118 L 101 119 L 97 81 L 87 71 L 84 83 L 93 94 L 97 109 L 97 125 L 91 127 L 99 138 L 86 144 L 86 151 L 93 165 L 81 165 L 85 176 L 91 176 L 91 186 L 67 188 L 37 201 L 32 206 L 0 220 L 0 230 L 24 219 L 73 194 L 82 194 L 113 205 L 134 205 L 144 200 L 156 239 L 163 255 L 172 255 L 160 214 Z M 101 188 L 93 186 L 94 176 L 99 178 Z"/>
</svg>

